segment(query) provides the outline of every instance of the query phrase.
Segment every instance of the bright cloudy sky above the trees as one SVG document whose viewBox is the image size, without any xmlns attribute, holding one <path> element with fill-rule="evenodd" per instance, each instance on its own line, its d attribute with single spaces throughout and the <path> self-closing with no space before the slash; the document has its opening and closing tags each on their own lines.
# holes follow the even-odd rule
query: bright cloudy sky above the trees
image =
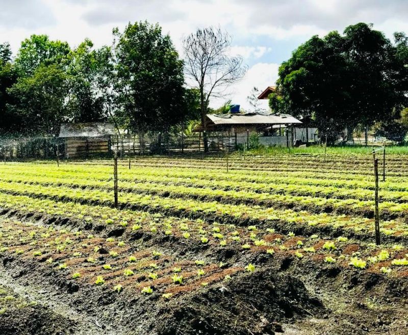
<svg viewBox="0 0 408 335">
<path fill-rule="evenodd" d="M 248 66 L 245 77 L 224 99 L 248 108 L 253 87 L 263 91 L 277 79 L 279 64 L 313 35 L 343 32 L 350 24 L 373 23 L 389 38 L 408 33 L 408 0 L 0 0 L 0 43 L 14 52 L 32 34 L 47 34 L 71 47 L 85 38 L 110 45 L 112 28 L 128 22 L 158 22 L 181 57 L 181 40 L 197 27 L 220 26 L 233 38 L 231 53 Z M 262 101 L 267 108 L 267 101 Z"/>
</svg>

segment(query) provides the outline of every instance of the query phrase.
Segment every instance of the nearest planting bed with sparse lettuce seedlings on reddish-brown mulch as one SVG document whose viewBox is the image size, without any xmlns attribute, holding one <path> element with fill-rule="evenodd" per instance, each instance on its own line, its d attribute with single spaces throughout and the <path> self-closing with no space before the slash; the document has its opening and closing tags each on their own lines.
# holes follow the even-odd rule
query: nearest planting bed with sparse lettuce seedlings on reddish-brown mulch
<svg viewBox="0 0 408 335">
<path fill-rule="evenodd" d="M 211 248 L 212 245 L 205 240 L 210 235 L 217 241 L 228 240 L 217 237 L 226 234 L 218 225 L 211 228 L 180 227 L 186 240 L 197 235 L 199 240 L 191 241 L 192 244 Z M 145 247 L 143 243 L 121 238 L 101 238 L 82 231 L 70 232 L 4 220 L 0 224 L 0 254 L 13 255 L 21 262 L 37 262 L 41 272 L 50 269 L 53 276 L 65 277 L 80 285 L 108 285 L 117 292 L 129 289 L 139 294 L 158 292 L 165 299 L 227 281 L 240 272 L 253 272 L 262 265 L 243 264 L 247 259 L 245 255 L 253 253 L 265 254 L 271 259 L 285 255 L 300 262 L 335 264 L 341 268 L 367 269 L 384 275 L 408 274 L 408 250 L 398 244 L 379 249 L 373 244 L 355 244 L 345 237 L 322 240 L 318 236 L 304 238 L 293 233 L 284 236 L 273 231 L 260 231 L 256 226 L 230 233 L 230 241 L 226 244 L 219 242 L 213 248 L 230 247 L 238 258 L 232 261 L 222 259 L 216 263 L 211 258 L 179 257 L 160 247 Z M 186 237 L 186 234 L 190 236 Z M 213 251 L 209 254 L 219 254 Z"/>
</svg>

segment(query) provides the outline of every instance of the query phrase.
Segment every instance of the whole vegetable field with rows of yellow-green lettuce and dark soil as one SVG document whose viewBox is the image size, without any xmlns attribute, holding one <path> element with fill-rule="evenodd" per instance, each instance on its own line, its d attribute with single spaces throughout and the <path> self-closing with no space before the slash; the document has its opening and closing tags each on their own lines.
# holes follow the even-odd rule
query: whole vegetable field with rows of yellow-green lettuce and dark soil
<svg viewBox="0 0 408 335">
<path fill-rule="evenodd" d="M 0 333 L 406 334 L 408 155 L 381 245 L 372 155 L 323 160 L 123 159 L 118 208 L 112 160 L 0 165 Z"/>
</svg>

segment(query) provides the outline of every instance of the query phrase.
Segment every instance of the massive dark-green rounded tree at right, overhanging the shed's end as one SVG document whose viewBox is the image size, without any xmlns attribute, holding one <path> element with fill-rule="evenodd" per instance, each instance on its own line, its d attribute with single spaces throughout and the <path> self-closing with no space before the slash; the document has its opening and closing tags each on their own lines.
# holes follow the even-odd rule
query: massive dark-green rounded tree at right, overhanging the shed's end
<svg viewBox="0 0 408 335">
<path fill-rule="evenodd" d="M 406 99 L 406 68 L 396 46 L 366 23 L 350 25 L 300 45 L 279 67 L 270 106 L 315 118 L 319 133 L 334 142 L 347 127 L 395 119 Z"/>
</svg>

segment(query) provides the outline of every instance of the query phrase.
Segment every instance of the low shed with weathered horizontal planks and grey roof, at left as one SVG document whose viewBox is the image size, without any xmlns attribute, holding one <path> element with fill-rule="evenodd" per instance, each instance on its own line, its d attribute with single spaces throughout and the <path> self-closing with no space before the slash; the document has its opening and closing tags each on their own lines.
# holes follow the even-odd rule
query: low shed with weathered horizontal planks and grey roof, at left
<svg viewBox="0 0 408 335">
<path fill-rule="evenodd" d="M 109 153 L 114 133 L 112 123 L 63 123 L 59 137 L 64 139 L 65 158 L 76 158 Z"/>
</svg>

